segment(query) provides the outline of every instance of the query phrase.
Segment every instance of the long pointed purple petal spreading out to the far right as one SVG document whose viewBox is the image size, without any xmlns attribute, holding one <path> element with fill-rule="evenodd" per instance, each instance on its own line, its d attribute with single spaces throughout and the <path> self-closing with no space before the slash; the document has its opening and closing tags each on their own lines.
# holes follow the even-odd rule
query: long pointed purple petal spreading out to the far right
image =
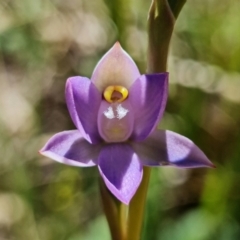
<svg viewBox="0 0 240 240">
<path fill-rule="evenodd" d="M 145 141 L 132 142 L 143 165 L 173 165 L 183 168 L 214 167 L 188 138 L 166 130 L 155 130 Z"/>
</svg>

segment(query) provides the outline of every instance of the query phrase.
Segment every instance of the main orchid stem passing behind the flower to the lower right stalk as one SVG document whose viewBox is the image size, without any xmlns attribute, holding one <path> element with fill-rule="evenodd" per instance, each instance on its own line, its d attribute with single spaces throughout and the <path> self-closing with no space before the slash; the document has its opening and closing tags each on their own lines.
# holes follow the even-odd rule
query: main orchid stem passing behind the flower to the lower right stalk
<svg viewBox="0 0 240 240">
<path fill-rule="evenodd" d="M 164 72 L 175 19 L 186 0 L 152 0 L 148 16 L 147 72 Z M 129 206 L 127 240 L 139 240 L 143 222 L 150 168 L 144 167 L 143 179 Z"/>
</svg>

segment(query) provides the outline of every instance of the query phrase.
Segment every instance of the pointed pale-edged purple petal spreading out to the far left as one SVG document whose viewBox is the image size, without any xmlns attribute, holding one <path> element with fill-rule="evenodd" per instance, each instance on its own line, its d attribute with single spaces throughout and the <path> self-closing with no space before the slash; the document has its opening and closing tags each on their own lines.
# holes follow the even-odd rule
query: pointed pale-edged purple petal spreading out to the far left
<svg viewBox="0 0 240 240">
<path fill-rule="evenodd" d="M 92 145 L 78 130 L 71 130 L 55 134 L 39 153 L 67 165 L 91 167 L 96 165 L 100 150 L 101 145 Z"/>
</svg>

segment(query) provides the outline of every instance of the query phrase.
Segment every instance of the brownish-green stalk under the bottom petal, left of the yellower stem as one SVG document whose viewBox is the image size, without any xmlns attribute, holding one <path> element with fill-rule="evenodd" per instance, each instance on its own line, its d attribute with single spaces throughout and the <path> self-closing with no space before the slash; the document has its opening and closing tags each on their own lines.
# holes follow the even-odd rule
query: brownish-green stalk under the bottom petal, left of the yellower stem
<svg viewBox="0 0 240 240">
<path fill-rule="evenodd" d="M 99 179 L 103 209 L 108 221 L 112 240 L 126 240 L 128 208 L 116 199 Z"/>
</svg>

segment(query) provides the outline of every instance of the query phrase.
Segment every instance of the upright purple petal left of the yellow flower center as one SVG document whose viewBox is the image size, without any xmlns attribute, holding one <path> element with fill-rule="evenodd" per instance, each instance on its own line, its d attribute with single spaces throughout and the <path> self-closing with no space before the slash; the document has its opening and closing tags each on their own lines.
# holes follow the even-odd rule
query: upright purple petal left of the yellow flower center
<svg viewBox="0 0 240 240">
<path fill-rule="evenodd" d="M 65 96 L 71 118 L 82 136 L 90 143 L 98 143 L 101 138 L 96 119 L 101 93 L 88 78 L 71 77 L 66 83 Z"/>
</svg>

